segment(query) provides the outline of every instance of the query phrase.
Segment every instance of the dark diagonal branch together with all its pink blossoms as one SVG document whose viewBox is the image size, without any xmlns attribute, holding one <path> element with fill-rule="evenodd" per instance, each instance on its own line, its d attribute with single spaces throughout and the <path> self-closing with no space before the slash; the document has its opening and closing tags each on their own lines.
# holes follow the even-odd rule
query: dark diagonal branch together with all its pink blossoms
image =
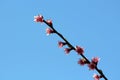
<svg viewBox="0 0 120 80">
<path fill-rule="evenodd" d="M 38 15 L 38 16 L 34 16 L 34 21 L 35 22 L 40 22 L 40 23 L 46 23 L 50 28 L 46 28 L 46 34 L 47 35 L 50 35 L 52 33 L 56 33 L 59 37 L 61 37 L 64 41 L 58 41 L 58 47 L 59 48 L 62 48 L 63 46 L 67 45 L 68 47 L 67 48 L 64 48 L 64 52 L 66 54 L 69 54 L 71 50 L 74 50 L 77 52 L 78 55 L 81 55 L 82 58 L 80 58 L 78 60 L 78 64 L 80 64 L 81 66 L 84 66 L 85 64 L 88 65 L 89 67 L 89 70 L 94 70 L 94 69 L 98 69 L 97 68 L 97 64 L 100 60 L 99 57 L 93 57 L 91 59 L 91 61 L 89 61 L 85 56 L 84 56 L 84 49 L 80 46 L 75 46 L 73 47 L 60 33 L 58 33 L 54 28 L 53 28 L 53 23 L 52 23 L 52 20 L 49 19 L 49 20 L 44 20 L 43 16 L 42 15 Z M 99 71 L 98 71 L 99 72 Z M 99 72 L 100 73 L 100 72 Z M 103 73 L 100 73 L 103 75 Z M 97 75 L 97 74 L 94 74 L 93 75 L 93 78 L 94 80 L 99 80 L 100 78 L 102 78 L 103 76 L 101 75 Z M 104 77 L 106 80 L 107 78 Z"/>
</svg>

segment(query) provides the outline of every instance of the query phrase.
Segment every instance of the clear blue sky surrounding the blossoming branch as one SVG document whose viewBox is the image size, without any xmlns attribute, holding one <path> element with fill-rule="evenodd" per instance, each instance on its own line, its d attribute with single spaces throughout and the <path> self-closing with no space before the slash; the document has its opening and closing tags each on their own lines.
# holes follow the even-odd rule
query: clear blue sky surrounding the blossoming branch
<svg viewBox="0 0 120 80">
<path fill-rule="evenodd" d="M 61 39 L 33 22 L 38 14 L 89 59 L 100 57 L 108 80 L 120 79 L 120 0 L 0 0 L 0 80 L 92 80 L 96 71 L 78 65 L 74 51 L 65 55 Z"/>
</svg>

